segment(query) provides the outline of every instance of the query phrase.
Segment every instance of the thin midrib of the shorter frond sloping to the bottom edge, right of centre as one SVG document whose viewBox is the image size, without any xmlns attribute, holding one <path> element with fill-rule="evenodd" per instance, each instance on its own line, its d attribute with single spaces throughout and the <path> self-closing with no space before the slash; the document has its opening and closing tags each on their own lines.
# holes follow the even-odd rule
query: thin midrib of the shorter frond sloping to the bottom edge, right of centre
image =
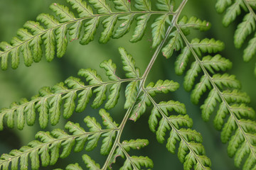
<svg viewBox="0 0 256 170">
<path fill-rule="evenodd" d="M 184 139 L 184 137 L 180 134 L 180 131 L 175 127 L 175 125 L 173 123 L 171 123 L 171 121 L 169 121 L 168 117 L 166 114 L 164 114 L 164 112 L 161 110 L 161 108 L 159 108 L 158 104 L 156 103 L 156 101 L 154 101 L 154 99 L 149 95 L 149 93 L 144 89 L 144 93 L 146 94 L 146 96 L 148 96 L 149 100 L 151 101 L 151 103 L 153 103 L 154 107 L 157 108 L 157 110 L 159 111 L 159 113 L 161 113 L 161 116 L 169 123 L 169 125 L 171 126 L 171 128 L 173 130 L 176 131 L 176 134 L 178 134 L 178 137 L 181 139 L 181 142 L 184 142 L 186 144 L 186 146 L 188 147 L 188 149 L 190 150 L 190 152 L 193 153 L 194 157 L 196 157 L 196 161 L 199 162 L 201 164 L 202 169 L 206 169 L 206 166 L 203 165 L 203 162 L 201 162 L 200 159 L 198 159 L 196 152 L 193 151 L 193 149 L 191 148 L 191 146 L 188 144 L 188 142 Z"/>
</svg>

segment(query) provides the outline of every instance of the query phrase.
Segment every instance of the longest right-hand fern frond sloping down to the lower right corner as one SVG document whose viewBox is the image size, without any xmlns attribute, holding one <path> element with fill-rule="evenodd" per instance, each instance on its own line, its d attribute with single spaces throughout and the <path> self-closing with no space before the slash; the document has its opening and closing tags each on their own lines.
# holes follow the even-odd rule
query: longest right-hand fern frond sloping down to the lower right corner
<svg viewBox="0 0 256 170">
<path fill-rule="evenodd" d="M 241 1 L 237 1 L 235 4 L 240 2 Z M 225 3 L 229 2 L 225 1 Z M 220 4 L 220 1 L 218 1 L 218 6 L 228 6 L 225 3 Z M 247 130 L 247 125 L 244 123 L 244 121 L 248 121 L 251 125 L 255 125 L 251 120 L 255 117 L 255 111 L 247 106 L 247 103 L 250 103 L 250 97 L 239 90 L 240 82 L 235 79 L 235 76 L 216 74 L 217 72 L 225 71 L 232 67 L 232 63 L 229 60 L 220 55 L 215 55 L 214 57 L 208 55 L 201 59 L 202 55 L 223 50 L 223 42 L 213 39 L 204 39 L 202 41 L 193 39 L 189 42 L 186 38 L 186 30 L 185 33 L 183 33 L 183 28 L 178 24 L 176 25 L 176 29 L 180 32 L 183 42 L 185 42 L 184 46 L 186 46 L 177 59 L 176 73 L 182 74 L 185 71 L 185 67 L 182 67 L 182 65 L 188 62 L 188 57 L 192 55 L 195 59 L 191 64 L 191 68 L 186 72 L 184 88 L 187 91 L 193 89 L 191 100 L 196 104 L 199 103 L 203 94 L 208 94 L 208 97 L 201 106 L 203 120 L 209 120 L 210 115 L 218 108 L 217 115 L 214 118 L 214 125 L 218 130 L 222 130 L 221 140 L 228 142 L 230 157 L 235 155 L 235 165 L 240 166 L 242 159 L 245 155 L 248 155 L 244 163 L 244 168 L 251 168 L 256 162 L 256 154 L 254 150 L 255 142 L 250 140 L 250 136 L 253 136 L 255 132 Z M 199 72 L 203 72 L 203 75 L 199 74 Z M 199 75 L 201 79 L 196 86 L 194 86 L 196 77 Z M 220 104 L 218 105 L 218 103 Z M 252 126 L 249 125 L 249 127 Z M 235 135 L 233 134 L 234 131 Z M 177 135 L 172 134 L 172 137 L 178 139 Z M 174 142 L 174 140 L 171 140 L 171 142 Z M 175 144 L 176 142 L 172 145 L 174 146 Z M 186 151 L 187 149 L 180 150 L 182 157 L 184 157 Z M 203 152 L 203 150 L 201 150 L 201 152 Z M 190 162 L 194 162 L 193 159 L 191 159 Z"/>
</svg>

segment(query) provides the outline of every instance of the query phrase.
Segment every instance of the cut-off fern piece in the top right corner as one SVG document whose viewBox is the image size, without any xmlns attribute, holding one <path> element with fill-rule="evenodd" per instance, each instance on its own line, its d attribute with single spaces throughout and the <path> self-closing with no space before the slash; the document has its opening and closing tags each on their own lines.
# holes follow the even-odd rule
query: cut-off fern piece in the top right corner
<svg viewBox="0 0 256 170">
<path fill-rule="evenodd" d="M 226 11 L 223 18 L 223 25 L 228 26 L 230 23 L 235 21 L 235 19 L 240 15 L 241 9 L 245 11 L 245 16 L 242 16 L 242 21 L 239 21 L 238 28 L 235 30 L 234 34 L 234 44 L 235 47 L 240 48 L 245 43 L 246 40 L 249 40 L 248 44 L 245 47 L 243 60 L 245 62 L 249 62 L 256 52 L 256 34 L 255 26 L 256 26 L 256 13 L 255 13 L 255 1 L 223 1 L 218 0 L 215 5 L 217 11 L 219 13 L 223 13 Z M 255 75 L 256 75 L 256 67 L 255 67 Z"/>
</svg>

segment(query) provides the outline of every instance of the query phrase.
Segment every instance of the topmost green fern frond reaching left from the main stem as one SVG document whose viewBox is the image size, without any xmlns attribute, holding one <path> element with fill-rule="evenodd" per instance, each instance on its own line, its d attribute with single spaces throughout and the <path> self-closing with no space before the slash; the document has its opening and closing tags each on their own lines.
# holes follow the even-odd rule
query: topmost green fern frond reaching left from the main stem
<svg viewBox="0 0 256 170">
<path fill-rule="evenodd" d="M 133 11 L 129 1 L 124 0 L 115 0 L 109 3 L 105 0 L 66 1 L 72 8 L 53 3 L 50 5 L 50 9 L 57 17 L 41 13 L 36 18 L 38 22 L 28 21 L 25 23 L 11 43 L 0 42 L 2 69 L 7 69 L 9 56 L 11 56 L 11 67 L 16 69 L 20 53 L 23 54 L 26 66 L 31 66 L 33 62 L 41 60 L 43 53 L 48 62 L 52 61 L 55 56 L 63 57 L 67 50 L 68 40 L 73 41 L 81 37 L 80 43 L 88 44 L 94 40 L 100 18 L 103 18 L 100 42 L 106 43 L 110 38 L 121 38 L 129 32 L 134 18 L 137 20 L 137 27 L 134 29 L 131 42 L 137 42 L 142 39 L 146 23 L 151 15 L 159 15 L 159 19 L 152 24 L 152 28 L 154 28 L 152 30 L 153 47 L 156 47 L 164 36 L 165 21 L 169 21 L 169 16 L 173 16 L 175 13 L 171 10 L 171 4 L 166 4 L 163 1 L 159 1 L 156 5 L 163 9 L 169 8 L 168 11 L 151 11 L 151 1 L 135 1 L 135 8 L 139 11 Z M 78 16 L 74 14 L 73 10 Z M 124 22 L 115 28 L 117 19 Z M 83 23 L 84 21 L 85 23 Z M 85 30 L 82 36 L 80 36 L 81 30 Z M 44 47 L 42 47 L 43 45 Z"/>
</svg>

